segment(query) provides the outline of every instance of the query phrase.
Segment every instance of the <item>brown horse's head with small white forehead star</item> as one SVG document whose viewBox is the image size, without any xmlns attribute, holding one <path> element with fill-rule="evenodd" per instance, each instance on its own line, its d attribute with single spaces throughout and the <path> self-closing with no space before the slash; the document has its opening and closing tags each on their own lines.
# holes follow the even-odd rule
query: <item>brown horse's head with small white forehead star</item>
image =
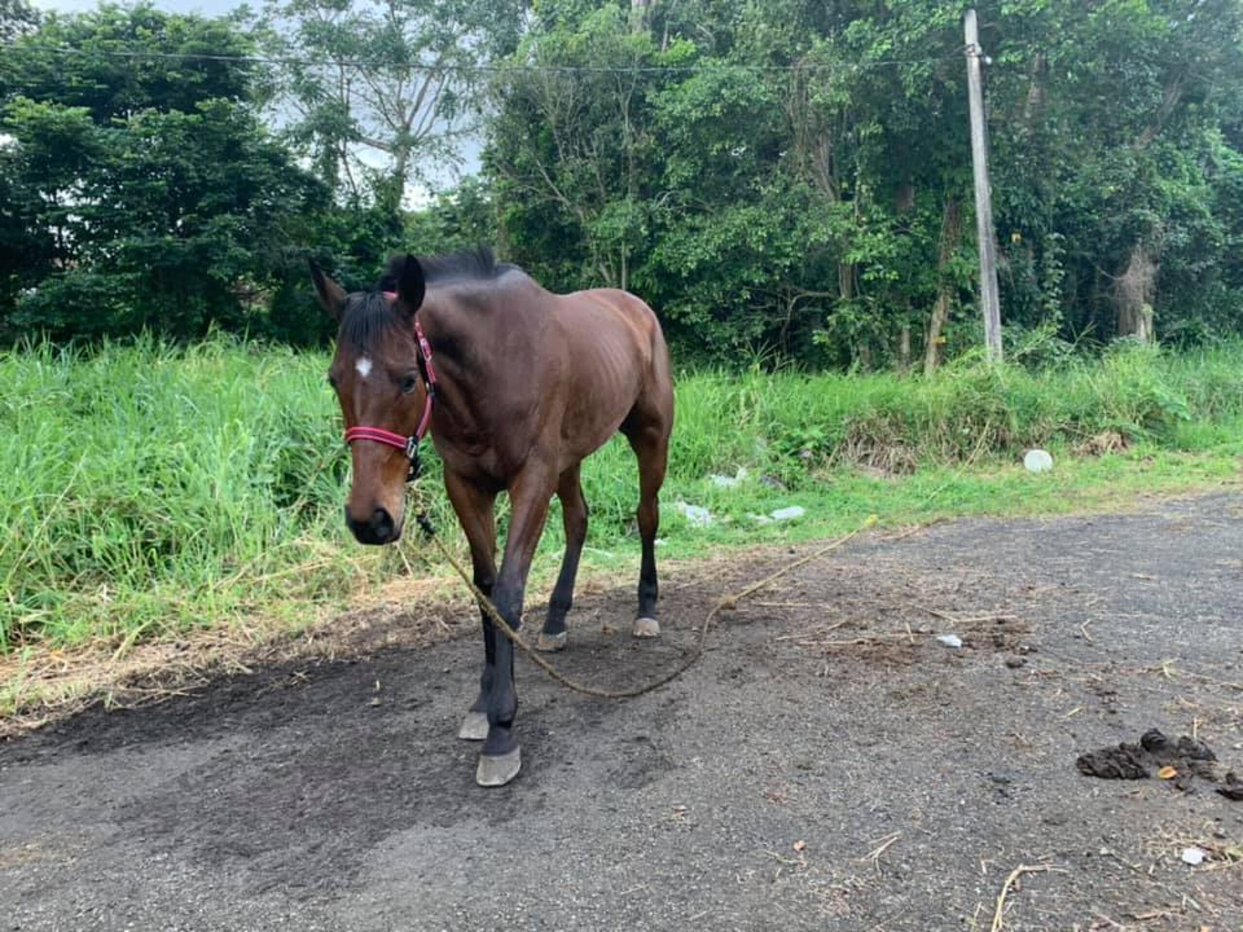
<svg viewBox="0 0 1243 932">
<path fill-rule="evenodd" d="M 414 256 L 394 260 L 380 287 L 370 292 L 347 295 L 314 263 L 311 278 L 319 302 L 339 324 L 328 381 L 341 401 L 346 429 L 413 435 L 428 399 L 414 336 L 414 313 L 425 290 L 419 261 Z M 404 451 L 383 442 L 355 441 L 351 449 L 353 483 L 346 524 L 359 543 L 393 543 L 401 537 L 410 461 Z"/>
</svg>

